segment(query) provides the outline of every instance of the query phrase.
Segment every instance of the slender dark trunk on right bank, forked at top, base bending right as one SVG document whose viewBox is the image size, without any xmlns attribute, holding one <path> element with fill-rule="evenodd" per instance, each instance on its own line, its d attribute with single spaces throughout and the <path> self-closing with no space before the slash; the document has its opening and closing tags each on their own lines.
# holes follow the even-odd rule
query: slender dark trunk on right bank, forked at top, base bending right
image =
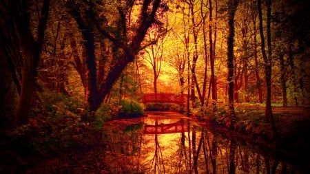
<svg viewBox="0 0 310 174">
<path fill-rule="evenodd" d="M 271 0 L 267 0 L 267 46 L 268 46 L 268 56 L 265 51 L 265 36 L 262 28 L 262 2 L 258 0 L 258 14 L 260 21 L 260 38 L 261 38 L 261 50 L 262 58 L 265 62 L 265 80 L 267 86 L 267 98 L 266 98 L 266 109 L 265 109 L 265 119 L 270 122 L 271 130 L 273 133 L 273 138 L 277 137 L 276 126 L 273 121 L 273 115 L 271 110 L 271 34 L 270 34 L 270 18 L 271 18 Z"/>
</svg>

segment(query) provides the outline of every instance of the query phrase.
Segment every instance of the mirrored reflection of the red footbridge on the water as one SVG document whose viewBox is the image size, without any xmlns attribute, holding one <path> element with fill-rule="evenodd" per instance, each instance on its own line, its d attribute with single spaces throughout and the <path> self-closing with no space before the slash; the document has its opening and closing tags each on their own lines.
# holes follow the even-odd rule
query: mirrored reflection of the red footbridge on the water
<svg viewBox="0 0 310 174">
<path fill-rule="evenodd" d="M 185 124 L 185 120 L 169 124 L 158 124 L 156 121 L 155 125 L 145 124 L 144 134 L 165 134 L 165 133 L 179 133 L 188 131 L 188 126 Z"/>
</svg>

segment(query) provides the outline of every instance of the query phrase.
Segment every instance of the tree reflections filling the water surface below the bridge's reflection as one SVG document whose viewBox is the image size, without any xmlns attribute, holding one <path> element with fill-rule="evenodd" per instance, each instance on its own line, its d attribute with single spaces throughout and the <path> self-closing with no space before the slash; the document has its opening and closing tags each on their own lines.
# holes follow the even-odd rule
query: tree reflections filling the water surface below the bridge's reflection
<svg viewBox="0 0 310 174">
<path fill-rule="evenodd" d="M 110 150 L 105 151 L 104 162 L 111 173 L 296 173 L 296 168 L 274 160 L 258 146 L 193 129 L 172 134 L 178 136 L 169 143 L 156 134 L 146 138 L 141 131 L 111 129 L 105 137 Z"/>
</svg>

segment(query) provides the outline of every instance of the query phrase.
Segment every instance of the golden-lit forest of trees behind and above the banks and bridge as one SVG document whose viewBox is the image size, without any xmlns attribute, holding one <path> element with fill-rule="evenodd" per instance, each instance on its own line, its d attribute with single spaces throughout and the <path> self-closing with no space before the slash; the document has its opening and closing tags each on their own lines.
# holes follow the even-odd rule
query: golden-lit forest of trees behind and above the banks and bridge
<svg viewBox="0 0 310 174">
<path fill-rule="evenodd" d="M 188 94 L 187 111 L 211 104 L 216 111 L 218 103 L 233 111 L 236 102 L 309 106 L 309 7 L 306 0 L 1 1 L 1 123 L 28 124 L 57 95 L 74 98 L 73 110 L 87 115 L 143 93 Z"/>
</svg>

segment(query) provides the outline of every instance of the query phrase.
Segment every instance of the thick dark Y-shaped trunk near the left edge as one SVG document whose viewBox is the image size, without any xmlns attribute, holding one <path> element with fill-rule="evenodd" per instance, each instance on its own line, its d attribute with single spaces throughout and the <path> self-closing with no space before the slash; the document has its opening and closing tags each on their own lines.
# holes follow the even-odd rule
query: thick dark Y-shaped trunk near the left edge
<svg viewBox="0 0 310 174">
<path fill-rule="evenodd" d="M 39 64 L 40 53 L 43 45 L 46 22 L 48 21 L 48 12 L 50 10 L 50 1 L 44 0 L 41 8 L 41 18 L 38 23 L 37 41 L 32 35 L 30 24 L 30 6 L 26 1 L 10 1 L 10 11 L 14 14 L 16 20 L 17 32 L 21 40 L 21 51 L 23 56 L 23 68 L 21 79 L 21 96 L 17 111 L 14 117 L 14 127 L 28 124 L 32 99 L 34 95 L 35 79 L 37 77 L 37 67 Z M 19 11 L 21 10 L 21 11 Z"/>
</svg>

